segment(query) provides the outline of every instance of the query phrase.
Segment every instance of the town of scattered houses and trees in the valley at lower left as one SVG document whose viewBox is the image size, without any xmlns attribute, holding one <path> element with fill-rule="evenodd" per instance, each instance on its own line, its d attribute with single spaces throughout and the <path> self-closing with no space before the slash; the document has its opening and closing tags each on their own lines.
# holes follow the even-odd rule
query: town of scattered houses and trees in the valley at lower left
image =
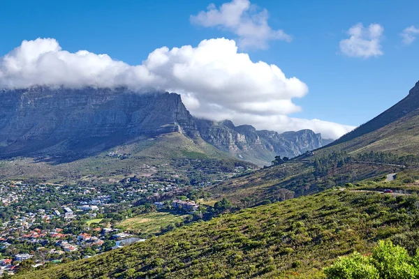
<svg viewBox="0 0 419 279">
<path fill-rule="evenodd" d="M 0 182 L 0 274 L 22 266 L 60 264 L 145 241 L 130 234 L 122 220 L 149 211 L 183 212 L 203 218 L 205 206 L 194 200 L 203 187 L 244 172 L 236 167 L 212 181 L 179 183 L 161 175 L 131 176 L 113 184 Z M 162 232 L 170 230 L 162 228 Z"/>
</svg>

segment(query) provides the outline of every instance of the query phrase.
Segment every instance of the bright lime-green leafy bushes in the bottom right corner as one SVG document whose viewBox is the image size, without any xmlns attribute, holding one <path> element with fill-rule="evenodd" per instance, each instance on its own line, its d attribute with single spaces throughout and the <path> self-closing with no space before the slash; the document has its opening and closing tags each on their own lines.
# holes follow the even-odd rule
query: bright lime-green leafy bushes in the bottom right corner
<svg viewBox="0 0 419 279">
<path fill-rule="evenodd" d="M 391 241 L 379 241 L 372 255 L 353 252 L 324 271 L 328 279 L 414 279 L 419 277 L 419 255 L 411 257 Z"/>
</svg>

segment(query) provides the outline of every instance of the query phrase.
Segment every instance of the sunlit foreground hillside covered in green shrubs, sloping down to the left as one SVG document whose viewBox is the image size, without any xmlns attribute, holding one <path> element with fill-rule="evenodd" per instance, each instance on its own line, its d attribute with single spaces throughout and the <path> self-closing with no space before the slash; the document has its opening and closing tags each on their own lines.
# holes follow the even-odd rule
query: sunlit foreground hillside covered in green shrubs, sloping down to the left
<svg viewBox="0 0 419 279">
<path fill-rule="evenodd" d="M 144 243 L 14 278 L 325 278 L 323 267 L 380 239 L 418 243 L 417 196 L 349 189 L 230 213 Z"/>
</svg>

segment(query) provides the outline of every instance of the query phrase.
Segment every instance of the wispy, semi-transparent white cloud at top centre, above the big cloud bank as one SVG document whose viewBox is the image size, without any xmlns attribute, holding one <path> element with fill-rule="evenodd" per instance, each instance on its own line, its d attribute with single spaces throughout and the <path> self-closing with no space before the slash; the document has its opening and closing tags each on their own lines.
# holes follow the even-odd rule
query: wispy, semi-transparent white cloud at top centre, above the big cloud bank
<svg viewBox="0 0 419 279">
<path fill-rule="evenodd" d="M 270 40 L 290 42 L 291 36 L 282 30 L 272 30 L 267 24 L 266 9 L 258 10 L 249 0 L 233 0 L 223 3 L 219 9 L 212 3 L 207 11 L 191 15 L 193 24 L 203 27 L 219 27 L 235 33 L 240 47 L 267 48 Z"/>
</svg>

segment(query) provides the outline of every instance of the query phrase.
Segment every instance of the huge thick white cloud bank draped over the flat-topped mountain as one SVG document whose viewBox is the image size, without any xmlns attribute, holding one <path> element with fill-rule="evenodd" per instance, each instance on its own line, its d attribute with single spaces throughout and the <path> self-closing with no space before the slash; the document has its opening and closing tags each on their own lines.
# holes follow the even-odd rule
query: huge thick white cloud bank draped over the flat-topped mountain
<svg viewBox="0 0 419 279">
<path fill-rule="evenodd" d="M 0 87 L 36 85 L 174 91 L 193 115 L 279 132 L 310 128 L 336 138 L 353 128 L 286 116 L 302 110 L 292 99 L 305 96 L 307 85 L 275 65 L 254 63 L 237 52 L 234 40 L 224 38 L 203 40 L 197 47 L 161 47 L 137 66 L 106 54 L 67 52 L 52 38 L 25 40 L 0 58 Z"/>
</svg>

